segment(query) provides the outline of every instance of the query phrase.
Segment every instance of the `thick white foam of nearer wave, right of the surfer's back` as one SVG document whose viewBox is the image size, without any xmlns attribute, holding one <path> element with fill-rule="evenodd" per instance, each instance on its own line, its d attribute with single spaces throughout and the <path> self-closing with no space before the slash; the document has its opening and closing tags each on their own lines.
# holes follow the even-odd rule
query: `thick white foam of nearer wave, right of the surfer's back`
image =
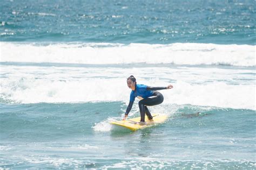
<svg viewBox="0 0 256 170">
<path fill-rule="evenodd" d="M 255 89 L 256 86 L 224 82 L 191 85 L 177 81 L 172 91 L 163 91 L 163 94 L 166 103 L 255 110 Z"/>
</svg>

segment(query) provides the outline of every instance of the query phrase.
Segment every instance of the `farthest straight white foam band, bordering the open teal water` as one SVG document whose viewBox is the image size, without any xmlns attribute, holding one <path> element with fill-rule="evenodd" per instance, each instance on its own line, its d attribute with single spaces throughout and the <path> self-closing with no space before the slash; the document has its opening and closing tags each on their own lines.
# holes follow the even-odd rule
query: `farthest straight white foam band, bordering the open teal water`
<svg viewBox="0 0 256 170">
<path fill-rule="evenodd" d="M 255 66 L 255 46 L 197 43 L 160 44 L 19 44 L 1 43 L 1 62 L 84 64 L 173 63 L 176 65 Z"/>
</svg>

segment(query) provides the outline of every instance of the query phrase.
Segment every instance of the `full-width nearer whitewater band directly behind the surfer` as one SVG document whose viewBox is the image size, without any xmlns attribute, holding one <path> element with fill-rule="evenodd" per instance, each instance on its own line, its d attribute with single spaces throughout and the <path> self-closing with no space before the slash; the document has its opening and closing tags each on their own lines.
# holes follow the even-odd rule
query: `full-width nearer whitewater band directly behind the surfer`
<svg viewBox="0 0 256 170">
<path fill-rule="evenodd" d="M 205 67 L 1 66 L 0 98 L 18 103 L 129 102 L 126 78 L 167 86 L 164 103 L 256 109 L 255 70 Z M 137 101 L 136 101 L 137 102 Z"/>
</svg>

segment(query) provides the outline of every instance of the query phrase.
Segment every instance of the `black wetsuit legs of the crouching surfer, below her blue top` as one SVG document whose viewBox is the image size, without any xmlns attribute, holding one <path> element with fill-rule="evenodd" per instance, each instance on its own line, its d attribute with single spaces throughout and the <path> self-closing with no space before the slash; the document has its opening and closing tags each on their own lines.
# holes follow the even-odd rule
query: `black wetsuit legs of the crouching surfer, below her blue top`
<svg viewBox="0 0 256 170">
<path fill-rule="evenodd" d="M 140 111 L 140 122 L 145 122 L 145 114 L 147 118 L 152 119 L 149 109 L 146 106 L 157 105 L 164 101 L 164 96 L 158 91 L 153 91 L 153 96 L 144 98 L 139 101 L 139 111 Z"/>
</svg>

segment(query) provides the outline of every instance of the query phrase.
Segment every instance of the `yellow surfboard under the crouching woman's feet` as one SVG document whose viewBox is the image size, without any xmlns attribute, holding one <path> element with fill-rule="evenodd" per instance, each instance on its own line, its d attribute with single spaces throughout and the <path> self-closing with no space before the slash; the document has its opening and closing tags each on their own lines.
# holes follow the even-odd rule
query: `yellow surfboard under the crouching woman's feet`
<svg viewBox="0 0 256 170">
<path fill-rule="evenodd" d="M 124 128 L 130 129 L 132 131 L 136 131 L 138 129 L 143 129 L 143 128 L 149 127 L 151 125 L 156 125 L 156 124 L 159 124 L 159 123 L 163 123 L 168 118 L 167 115 L 154 114 L 152 116 L 153 116 L 153 121 L 149 121 L 147 119 L 147 117 L 145 117 L 146 125 L 137 124 L 140 121 L 140 117 L 136 117 L 136 118 L 132 118 L 132 119 L 126 119 L 125 121 L 116 121 L 116 122 L 110 122 L 110 123 L 114 124 L 114 125 L 123 126 Z"/>
</svg>

